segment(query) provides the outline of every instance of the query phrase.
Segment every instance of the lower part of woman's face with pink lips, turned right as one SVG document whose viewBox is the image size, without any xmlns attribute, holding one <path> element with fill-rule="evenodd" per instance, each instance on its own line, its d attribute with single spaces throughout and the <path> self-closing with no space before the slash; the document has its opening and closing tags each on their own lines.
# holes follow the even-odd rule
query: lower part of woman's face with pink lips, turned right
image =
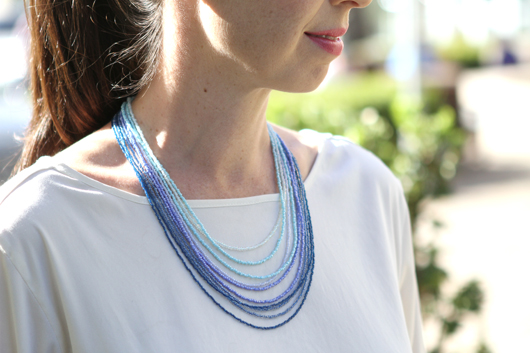
<svg viewBox="0 0 530 353">
<path fill-rule="evenodd" d="M 322 82 L 342 46 L 340 40 L 315 38 L 307 33 L 344 32 L 349 11 L 369 2 L 201 0 L 199 9 L 202 26 L 214 50 L 243 67 L 245 76 L 253 80 L 251 84 L 304 92 Z"/>
</svg>

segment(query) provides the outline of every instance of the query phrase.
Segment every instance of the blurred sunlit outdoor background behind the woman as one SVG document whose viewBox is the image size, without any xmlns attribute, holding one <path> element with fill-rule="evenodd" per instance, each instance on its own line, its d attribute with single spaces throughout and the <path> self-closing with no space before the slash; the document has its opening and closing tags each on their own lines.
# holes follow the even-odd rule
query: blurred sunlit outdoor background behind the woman
<svg viewBox="0 0 530 353">
<path fill-rule="evenodd" d="M 21 0 L 0 0 L 0 184 L 31 117 Z M 429 352 L 530 352 L 530 0 L 374 0 L 315 92 L 268 119 L 347 136 L 400 178 Z"/>
</svg>

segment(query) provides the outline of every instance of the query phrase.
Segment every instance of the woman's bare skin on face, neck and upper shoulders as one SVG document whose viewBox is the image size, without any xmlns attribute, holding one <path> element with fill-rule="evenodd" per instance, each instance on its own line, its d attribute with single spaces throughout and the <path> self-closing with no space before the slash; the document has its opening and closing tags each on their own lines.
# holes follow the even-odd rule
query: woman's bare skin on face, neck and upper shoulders
<svg viewBox="0 0 530 353">
<path fill-rule="evenodd" d="M 157 74 L 133 113 L 187 199 L 278 192 L 265 111 L 272 89 L 307 92 L 335 56 L 304 32 L 348 26 L 370 0 L 167 0 Z M 274 126 L 305 179 L 317 146 Z M 110 125 L 67 148 L 62 162 L 144 195 Z"/>
</svg>

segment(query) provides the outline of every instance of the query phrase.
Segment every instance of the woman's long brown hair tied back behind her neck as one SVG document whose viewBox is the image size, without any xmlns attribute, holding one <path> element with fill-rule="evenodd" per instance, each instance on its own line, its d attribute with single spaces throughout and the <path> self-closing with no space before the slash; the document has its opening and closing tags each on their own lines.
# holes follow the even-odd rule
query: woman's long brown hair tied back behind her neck
<svg viewBox="0 0 530 353">
<path fill-rule="evenodd" d="M 33 117 L 16 173 L 108 123 L 152 79 L 162 0 L 26 0 Z"/>
</svg>

